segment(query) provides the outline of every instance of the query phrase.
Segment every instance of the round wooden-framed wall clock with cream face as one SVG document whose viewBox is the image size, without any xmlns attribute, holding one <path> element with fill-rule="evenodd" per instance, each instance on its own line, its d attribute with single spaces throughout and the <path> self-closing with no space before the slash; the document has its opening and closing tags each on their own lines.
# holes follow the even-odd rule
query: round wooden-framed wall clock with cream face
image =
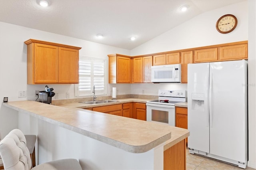
<svg viewBox="0 0 256 170">
<path fill-rule="evenodd" d="M 226 14 L 220 17 L 220 19 L 218 19 L 216 23 L 216 29 L 218 30 L 218 32 L 222 34 L 226 34 L 226 33 L 232 32 L 236 28 L 236 25 L 237 25 L 236 17 L 231 14 Z"/>
</svg>

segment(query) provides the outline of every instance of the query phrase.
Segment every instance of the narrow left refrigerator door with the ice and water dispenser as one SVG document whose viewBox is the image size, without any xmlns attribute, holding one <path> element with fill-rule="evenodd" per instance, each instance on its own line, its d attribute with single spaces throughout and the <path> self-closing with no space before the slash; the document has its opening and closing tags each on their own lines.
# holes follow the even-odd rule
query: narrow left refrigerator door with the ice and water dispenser
<svg viewBox="0 0 256 170">
<path fill-rule="evenodd" d="M 188 64 L 188 147 L 210 152 L 209 63 Z"/>
</svg>

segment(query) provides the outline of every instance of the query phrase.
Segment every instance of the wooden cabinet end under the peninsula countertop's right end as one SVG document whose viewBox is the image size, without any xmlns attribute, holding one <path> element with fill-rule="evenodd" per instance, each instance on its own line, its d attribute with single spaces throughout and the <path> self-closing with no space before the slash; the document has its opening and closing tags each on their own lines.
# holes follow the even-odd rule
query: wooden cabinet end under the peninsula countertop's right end
<svg viewBox="0 0 256 170">
<path fill-rule="evenodd" d="M 164 170 L 186 170 L 185 139 L 164 151 Z"/>
</svg>

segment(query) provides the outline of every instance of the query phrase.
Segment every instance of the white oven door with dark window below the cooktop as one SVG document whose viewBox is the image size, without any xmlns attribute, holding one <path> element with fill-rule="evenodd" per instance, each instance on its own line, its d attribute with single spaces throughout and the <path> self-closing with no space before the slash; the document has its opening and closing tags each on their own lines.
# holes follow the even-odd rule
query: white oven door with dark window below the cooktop
<svg viewBox="0 0 256 170">
<path fill-rule="evenodd" d="M 146 103 L 147 121 L 175 127 L 175 106 Z"/>
</svg>

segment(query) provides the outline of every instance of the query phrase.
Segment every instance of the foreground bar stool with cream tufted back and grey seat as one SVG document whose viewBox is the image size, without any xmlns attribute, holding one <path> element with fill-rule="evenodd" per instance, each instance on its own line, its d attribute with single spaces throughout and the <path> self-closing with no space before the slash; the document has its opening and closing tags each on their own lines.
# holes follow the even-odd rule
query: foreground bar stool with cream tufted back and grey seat
<svg viewBox="0 0 256 170">
<path fill-rule="evenodd" d="M 14 129 L 0 142 L 0 156 L 5 170 L 30 170 L 31 158 L 26 138 L 21 130 Z M 78 160 L 62 159 L 46 162 L 31 170 L 82 170 Z"/>
</svg>

